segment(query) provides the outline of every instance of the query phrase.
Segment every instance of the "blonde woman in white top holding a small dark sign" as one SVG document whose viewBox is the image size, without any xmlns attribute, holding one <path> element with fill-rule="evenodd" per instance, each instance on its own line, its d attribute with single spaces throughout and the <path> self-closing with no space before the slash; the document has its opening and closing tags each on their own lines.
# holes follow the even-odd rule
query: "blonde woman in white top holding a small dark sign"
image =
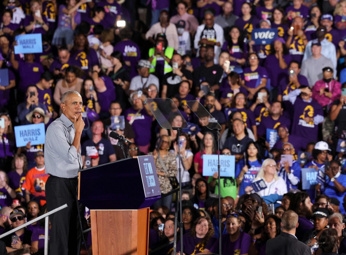
<svg viewBox="0 0 346 255">
<path fill-rule="evenodd" d="M 263 180 L 267 186 L 265 189 L 255 192 L 251 186 L 247 186 L 245 191 L 249 193 L 257 193 L 261 197 L 271 194 L 283 195 L 287 193 L 287 185 L 282 177 L 276 172 L 276 162 L 271 158 L 263 161 L 260 170 L 253 182 Z"/>
</svg>

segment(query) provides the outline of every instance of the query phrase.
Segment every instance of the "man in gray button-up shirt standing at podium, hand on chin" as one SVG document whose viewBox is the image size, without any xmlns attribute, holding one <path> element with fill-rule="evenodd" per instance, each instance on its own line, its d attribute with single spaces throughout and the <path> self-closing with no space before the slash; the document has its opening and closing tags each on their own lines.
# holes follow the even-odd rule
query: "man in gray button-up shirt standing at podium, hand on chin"
<svg viewBox="0 0 346 255">
<path fill-rule="evenodd" d="M 82 97 L 77 91 L 62 95 L 63 111 L 47 128 L 45 140 L 46 200 L 49 211 L 67 204 L 68 208 L 49 216 L 52 224 L 49 254 L 79 254 L 81 230 L 77 227 L 76 188 L 78 171 L 82 168 L 80 139 L 84 128 Z"/>
</svg>

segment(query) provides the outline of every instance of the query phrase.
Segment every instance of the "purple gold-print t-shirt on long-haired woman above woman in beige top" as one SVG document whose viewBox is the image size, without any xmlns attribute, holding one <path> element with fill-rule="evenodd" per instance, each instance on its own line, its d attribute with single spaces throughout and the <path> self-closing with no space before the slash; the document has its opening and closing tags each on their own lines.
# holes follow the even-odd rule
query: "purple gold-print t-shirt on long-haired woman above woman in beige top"
<svg viewBox="0 0 346 255">
<path fill-rule="evenodd" d="M 90 48 L 89 53 L 85 51 L 76 51 L 75 53 L 71 52 L 71 64 L 80 67 L 82 70 L 88 74 L 88 69 L 92 68 L 94 65 L 99 64 L 99 59 L 94 49 Z"/>
</svg>

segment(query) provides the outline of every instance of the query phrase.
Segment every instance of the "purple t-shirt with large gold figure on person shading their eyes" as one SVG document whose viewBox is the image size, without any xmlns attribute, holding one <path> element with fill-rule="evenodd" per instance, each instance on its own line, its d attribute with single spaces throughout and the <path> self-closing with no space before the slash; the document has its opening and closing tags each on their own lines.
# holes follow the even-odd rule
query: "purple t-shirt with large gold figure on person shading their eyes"
<svg viewBox="0 0 346 255">
<path fill-rule="evenodd" d="M 315 117 L 316 115 L 323 116 L 323 110 L 320 104 L 313 100 L 310 103 L 304 102 L 301 98 L 297 97 L 293 107 L 294 115 L 291 134 L 308 137 L 310 141 L 317 141 L 318 125 L 315 125 L 313 121 L 307 123 L 304 118 Z"/>
</svg>

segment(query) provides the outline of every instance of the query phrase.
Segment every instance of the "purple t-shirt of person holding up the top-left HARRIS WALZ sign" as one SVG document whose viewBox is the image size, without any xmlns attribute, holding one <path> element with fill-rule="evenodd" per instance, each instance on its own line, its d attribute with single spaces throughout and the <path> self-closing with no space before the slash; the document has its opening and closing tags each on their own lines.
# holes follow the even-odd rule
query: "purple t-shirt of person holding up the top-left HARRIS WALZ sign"
<svg viewBox="0 0 346 255">
<path fill-rule="evenodd" d="M 28 63 L 18 61 L 18 64 L 18 73 L 20 77 L 18 89 L 25 93 L 27 86 L 39 82 L 41 74 L 44 72 L 44 70 L 42 65 L 36 62 Z"/>
</svg>

